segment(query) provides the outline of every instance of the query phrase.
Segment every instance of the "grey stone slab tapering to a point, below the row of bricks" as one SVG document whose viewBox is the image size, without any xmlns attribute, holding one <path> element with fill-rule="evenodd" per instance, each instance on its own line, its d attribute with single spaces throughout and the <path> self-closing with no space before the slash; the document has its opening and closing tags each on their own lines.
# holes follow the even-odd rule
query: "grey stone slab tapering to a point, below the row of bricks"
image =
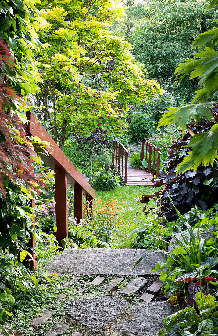
<svg viewBox="0 0 218 336">
<path fill-rule="evenodd" d="M 92 331 L 98 331 L 109 321 L 118 318 L 124 308 L 131 306 L 121 297 L 100 295 L 73 299 L 68 303 L 65 312 L 71 319 Z"/>
</svg>

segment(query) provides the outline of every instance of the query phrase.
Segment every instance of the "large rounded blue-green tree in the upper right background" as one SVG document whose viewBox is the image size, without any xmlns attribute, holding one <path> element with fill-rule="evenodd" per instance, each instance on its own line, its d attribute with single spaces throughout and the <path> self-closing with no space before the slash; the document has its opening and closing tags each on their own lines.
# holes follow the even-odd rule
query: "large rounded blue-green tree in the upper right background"
<svg viewBox="0 0 218 336">
<path fill-rule="evenodd" d="M 194 56 L 192 44 L 199 33 L 217 26 L 217 11 L 205 12 L 206 1 L 151 1 L 144 6 L 145 17 L 135 21 L 129 38 L 132 52 L 142 62 L 150 78 L 174 77 L 177 64 Z M 189 102 L 198 79 L 184 80 L 179 93 Z"/>
</svg>

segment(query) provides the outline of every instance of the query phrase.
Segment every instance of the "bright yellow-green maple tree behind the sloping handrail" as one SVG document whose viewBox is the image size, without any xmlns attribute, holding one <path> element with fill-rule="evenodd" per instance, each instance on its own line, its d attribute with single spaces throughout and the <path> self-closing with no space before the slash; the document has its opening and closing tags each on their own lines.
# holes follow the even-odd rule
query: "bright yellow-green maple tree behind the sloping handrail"
<svg viewBox="0 0 218 336">
<path fill-rule="evenodd" d="M 95 127 L 114 134 L 122 131 L 119 117 L 121 111 L 128 111 L 128 99 L 146 100 L 162 92 L 157 83 L 141 77 L 129 43 L 107 30 L 120 19 L 122 8 L 110 1 L 71 0 L 59 1 L 58 7 L 56 1 L 43 1 L 39 9 L 44 22 L 38 25 L 42 48 L 36 64 L 44 82 L 39 84 L 38 97 L 45 106 L 45 119 L 52 119 L 54 139 L 59 139 L 61 149 L 75 131 L 85 136 Z M 115 62 L 113 71 L 104 76 L 111 92 L 88 88 L 84 79 L 100 74 L 107 59 Z"/>
</svg>

